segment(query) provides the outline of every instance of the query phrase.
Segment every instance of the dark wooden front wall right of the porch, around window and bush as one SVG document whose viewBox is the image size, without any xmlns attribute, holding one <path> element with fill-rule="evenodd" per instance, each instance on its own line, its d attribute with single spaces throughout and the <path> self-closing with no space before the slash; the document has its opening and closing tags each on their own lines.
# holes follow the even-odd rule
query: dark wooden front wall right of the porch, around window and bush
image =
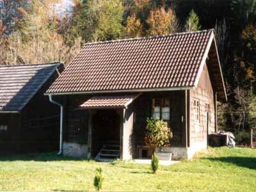
<svg viewBox="0 0 256 192">
<path fill-rule="evenodd" d="M 173 132 L 171 146 L 184 147 L 185 141 L 185 95 L 184 91 L 145 92 L 134 101 L 133 145 L 143 145 L 147 118 L 152 116 L 152 99 L 170 99 L 170 127 Z M 183 120 L 182 120 L 183 116 Z M 133 147 L 136 148 L 136 147 Z"/>
</svg>

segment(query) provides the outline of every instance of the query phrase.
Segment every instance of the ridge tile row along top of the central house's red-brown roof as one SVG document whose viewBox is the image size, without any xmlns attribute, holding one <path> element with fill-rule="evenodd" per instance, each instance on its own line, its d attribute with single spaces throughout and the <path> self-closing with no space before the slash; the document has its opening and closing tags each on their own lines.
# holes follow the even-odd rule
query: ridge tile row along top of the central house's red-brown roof
<svg viewBox="0 0 256 192">
<path fill-rule="evenodd" d="M 99 42 L 89 42 L 83 45 L 83 47 L 87 45 L 95 45 L 95 44 L 109 44 L 109 43 L 115 43 L 115 42 L 126 42 L 126 41 L 132 41 L 132 40 L 146 40 L 146 39 L 152 39 L 152 38 L 161 38 L 161 37 L 166 37 L 166 36 L 175 36 L 175 35 L 188 35 L 188 34 L 193 34 L 193 33 L 205 33 L 208 31 L 214 31 L 214 29 L 204 29 L 200 31 L 188 31 L 188 32 L 180 32 L 180 33 L 169 33 L 166 35 L 157 35 L 157 36 L 141 36 L 141 37 L 136 37 L 136 38 L 120 38 L 116 40 L 107 40 L 107 41 L 99 41 Z"/>
</svg>

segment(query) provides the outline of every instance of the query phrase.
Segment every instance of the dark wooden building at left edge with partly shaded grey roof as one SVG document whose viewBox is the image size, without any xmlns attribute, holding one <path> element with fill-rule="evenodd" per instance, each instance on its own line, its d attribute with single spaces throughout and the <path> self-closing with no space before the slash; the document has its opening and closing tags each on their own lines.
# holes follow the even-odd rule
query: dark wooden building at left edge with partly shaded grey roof
<svg viewBox="0 0 256 192">
<path fill-rule="evenodd" d="M 0 66 L 0 153 L 58 148 L 60 109 L 44 93 L 61 63 Z"/>
</svg>

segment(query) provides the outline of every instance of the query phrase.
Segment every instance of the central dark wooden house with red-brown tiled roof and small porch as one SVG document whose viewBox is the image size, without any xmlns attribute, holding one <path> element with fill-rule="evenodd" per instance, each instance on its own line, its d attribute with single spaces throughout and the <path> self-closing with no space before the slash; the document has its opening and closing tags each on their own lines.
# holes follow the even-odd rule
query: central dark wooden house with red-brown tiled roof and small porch
<svg viewBox="0 0 256 192">
<path fill-rule="evenodd" d="M 212 29 L 86 44 L 46 95 L 63 108 L 61 152 L 101 159 L 150 156 L 148 117 L 172 127 L 164 150 L 191 158 L 227 100 Z"/>
</svg>

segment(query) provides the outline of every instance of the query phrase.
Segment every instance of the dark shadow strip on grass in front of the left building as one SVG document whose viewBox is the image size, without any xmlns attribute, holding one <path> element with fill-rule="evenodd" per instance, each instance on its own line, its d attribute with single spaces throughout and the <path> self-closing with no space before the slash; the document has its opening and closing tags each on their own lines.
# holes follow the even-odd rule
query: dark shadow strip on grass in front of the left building
<svg viewBox="0 0 256 192">
<path fill-rule="evenodd" d="M 57 152 L 1 155 L 0 161 L 92 161 L 92 159 L 65 157 Z"/>
</svg>

